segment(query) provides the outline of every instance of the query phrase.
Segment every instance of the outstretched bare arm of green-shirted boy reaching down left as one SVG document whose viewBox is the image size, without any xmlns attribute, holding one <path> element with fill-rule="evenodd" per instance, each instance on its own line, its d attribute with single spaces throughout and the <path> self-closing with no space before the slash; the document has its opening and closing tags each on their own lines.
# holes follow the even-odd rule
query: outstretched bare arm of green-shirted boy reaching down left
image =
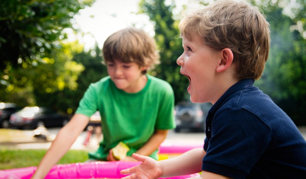
<svg viewBox="0 0 306 179">
<path fill-rule="evenodd" d="M 32 179 L 41 179 L 48 174 L 52 166 L 54 166 L 69 150 L 88 122 L 89 117 L 86 115 L 73 115 L 68 124 L 59 131 L 55 140 L 52 142 L 51 147 L 39 163 L 39 166 L 33 174 Z"/>
</svg>

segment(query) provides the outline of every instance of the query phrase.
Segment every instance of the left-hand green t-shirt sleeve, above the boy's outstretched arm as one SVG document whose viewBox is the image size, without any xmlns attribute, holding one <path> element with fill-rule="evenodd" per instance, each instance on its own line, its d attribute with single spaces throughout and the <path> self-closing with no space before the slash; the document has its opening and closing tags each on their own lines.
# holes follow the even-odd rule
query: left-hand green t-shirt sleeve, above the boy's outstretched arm
<svg viewBox="0 0 306 179">
<path fill-rule="evenodd" d="M 97 109 L 97 94 L 94 84 L 91 84 L 80 100 L 79 107 L 76 109 L 75 113 L 84 114 L 90 117 Z"/>
</svg>

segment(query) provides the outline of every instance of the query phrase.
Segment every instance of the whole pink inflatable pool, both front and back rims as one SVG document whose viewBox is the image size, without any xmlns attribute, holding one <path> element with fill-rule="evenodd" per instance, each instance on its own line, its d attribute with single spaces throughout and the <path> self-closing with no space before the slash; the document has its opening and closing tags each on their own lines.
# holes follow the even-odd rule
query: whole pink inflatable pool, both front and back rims
<svg viewBox="0 0 306 179">
<path fill-rule="evenodd" d="M 171 154 L 181 154 L 193 148 L 203 148 L 202 144 L 169 143 L 163 142 L 159 147 L 160 158 L 169 158 Z M 59 164 L 50 170 L 45 179 L 74 179 L 74 178 L 121 178 L 120 170 L 136 166 L 141 162 L 91 162 L 91 163 L 72 163 Z M 0 179 L 29 179 L 34 174 L 37 167 L 30 166 L 25 168 L 0 170 Z M 200 176 L 200 174 L 183 175 L 171 177 L 171 179 L 183 179 Z"/>
</svg>

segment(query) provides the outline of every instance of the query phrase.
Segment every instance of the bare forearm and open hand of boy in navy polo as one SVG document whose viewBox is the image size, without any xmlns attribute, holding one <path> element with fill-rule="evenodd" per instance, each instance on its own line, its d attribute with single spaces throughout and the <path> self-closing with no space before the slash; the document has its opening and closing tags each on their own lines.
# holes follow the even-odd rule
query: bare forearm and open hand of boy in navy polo
<svg viewBox="0 0 306 179">
<path fill-rule="evenodd" d="M 155 161 L 154 159 L 133 154 L 133 158 L 143 163 L 129 169 L 121 170 L 121 174 L 131 174 L 124 179 L 158 178 L 194 174 L 201 171 L 202 159 L 206 152 L 203 148 L 195 148 L 172 159 Z"/>
</svg>

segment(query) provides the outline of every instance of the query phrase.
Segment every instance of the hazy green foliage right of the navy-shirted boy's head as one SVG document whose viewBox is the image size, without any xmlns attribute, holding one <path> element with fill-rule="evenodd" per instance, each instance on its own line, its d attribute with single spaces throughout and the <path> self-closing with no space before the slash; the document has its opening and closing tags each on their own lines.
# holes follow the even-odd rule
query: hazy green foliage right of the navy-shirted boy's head
<svg viewBox="0 0 306 179">
<path fill-rule="evenodd" d="M 271 27 L 271 49 L 264 74 L 256 85 L 268 94 L 296 125 L 306 125 L 306 39 L 301 33 L 304 28 L 297 28 L 297 22 L 305 21 L 303 9 L 306 5 L 299 2 L 300 11 L 295 9 L 290 18 L 284 13 L 285 7 L 280 7 L 286 3 L 285 0 L 262 3 L 266 3 L 263 9 Z"/>
</svg>

